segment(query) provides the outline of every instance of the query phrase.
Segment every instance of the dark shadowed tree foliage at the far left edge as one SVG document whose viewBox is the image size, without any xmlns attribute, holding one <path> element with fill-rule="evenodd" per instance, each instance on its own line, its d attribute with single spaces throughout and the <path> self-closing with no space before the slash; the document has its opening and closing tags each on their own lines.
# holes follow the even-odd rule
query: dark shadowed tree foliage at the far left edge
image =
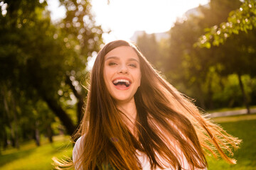
<svg viewBox="0 0 256 170">
<path fill-rule="evenodd" d="M 32 112 L 45 96 L 58 98 L 56 91 L 61 79 L 65 79 L 63 72 L 67 69 L 63 63 L 69 57 L 63 53 L 63 41 L 53 36 L 56 28 L 43 12 L 46 3 L 4 2 L 8 8 L 6 16 L 1 18 L 0 69 L 3 77 L 0 82 L 7 91 L 12 91 L 17 107 L 26 117 L 23 101 L 30 104 Z M 29 114 L 28 118 L 33 124 L 34 119 Z"/>
</svg>

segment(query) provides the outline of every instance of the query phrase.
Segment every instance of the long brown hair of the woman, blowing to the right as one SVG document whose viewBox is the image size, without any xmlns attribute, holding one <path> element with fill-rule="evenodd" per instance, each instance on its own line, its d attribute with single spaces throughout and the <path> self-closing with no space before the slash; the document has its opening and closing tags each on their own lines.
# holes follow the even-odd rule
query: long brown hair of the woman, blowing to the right
<svg viewBox="0 0 256 170">
<path fill-rule="evenodd" d="M 142 72 L 141 85 L 134 95 L 137 137 L 123 122 L 122 112 L 103 79 L 105 55 L 120 46 L 132 47 L 137 52 Z M 77 132 L 84 140 L 81 156 L 75 162 L 83 169 L 142 169 L 137 151 L 146 154 L 152 169 L 168 165 L 181 169 L 178 150 L 191 169 L 205 168 L 208 152 L 220 154 L 235 164 L 225 152 L 233 154 L 232 148 L 238 148 L 240 140 L 204 118 L 190 99 L 162 78 L 132 43 L 116 40 L 100 50 L 88 90 L 85 113 Z"/>
</svg>

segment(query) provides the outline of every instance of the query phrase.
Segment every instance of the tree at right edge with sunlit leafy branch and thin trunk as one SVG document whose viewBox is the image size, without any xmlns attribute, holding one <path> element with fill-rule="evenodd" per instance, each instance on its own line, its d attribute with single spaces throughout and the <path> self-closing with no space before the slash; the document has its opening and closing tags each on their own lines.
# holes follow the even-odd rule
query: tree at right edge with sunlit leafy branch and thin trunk
<svg viewBox="0 0 256 170">
<path fill-rule="evenodd" d="M 223 73 L 237 74 L 243 101 L 250 113 L 250 104 L 245 94 L 242 75 L 255 77 L 255 14 L 256 1 L 245 1 L 240 8 L 229 13 L 228 22 L 206 29 L 195 45 L 210 48 L 219 46 L 216 62 L 223 64 Z"/>
</svg>

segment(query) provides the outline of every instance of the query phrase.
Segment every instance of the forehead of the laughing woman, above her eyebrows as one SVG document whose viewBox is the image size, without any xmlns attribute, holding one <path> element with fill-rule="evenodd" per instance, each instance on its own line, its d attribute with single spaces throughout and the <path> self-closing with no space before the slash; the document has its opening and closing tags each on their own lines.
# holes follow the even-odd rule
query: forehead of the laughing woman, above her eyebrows
<svg viewBox="0 0 256 170">
<path fill-rule="evenodd" d="M 107 52 L 107 55 L 105 55 L 105 60 L 107 60 L 110 57 L 115 57 L 117 59 L 136 59 L 139 60 L 139 57 L 137 55 L 137 52 L 135 52 L 132 47 L 129 46 L 120 46 L 116 47 L 110 52 Z"/>
</svg>

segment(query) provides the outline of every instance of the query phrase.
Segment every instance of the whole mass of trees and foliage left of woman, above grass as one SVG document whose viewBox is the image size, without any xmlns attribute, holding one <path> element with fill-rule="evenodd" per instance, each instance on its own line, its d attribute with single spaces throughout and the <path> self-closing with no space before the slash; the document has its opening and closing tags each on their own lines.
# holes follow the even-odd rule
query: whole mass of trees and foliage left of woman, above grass
<svg viewBox="0 0 256 170">
<path fill-rule="evenodd" d="M 66 18 L 50 21 L 43 1 L 1 1 L 0 145 L 58 132 L 72 134 L 86 95 L 80 81 L 87 57 L 102 44 L 90 1 L 60 1 Z M 63 128 L 60 128 L 63 129 Z"/>
</svg>

